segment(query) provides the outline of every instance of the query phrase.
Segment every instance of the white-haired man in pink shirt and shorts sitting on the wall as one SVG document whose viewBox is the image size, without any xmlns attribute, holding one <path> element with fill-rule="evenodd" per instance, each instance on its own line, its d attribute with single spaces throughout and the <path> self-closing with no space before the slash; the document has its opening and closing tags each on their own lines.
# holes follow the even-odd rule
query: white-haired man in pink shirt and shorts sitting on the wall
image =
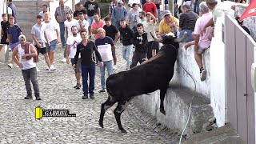
<svg viewBox="0 0 256 144">
<path fill-rule="evenodd" d="M 198 18 L 197 22 L 194 26 L 194 41 L 188 42 L 185 44 L 185 48 L 187 49 L 190 45 L 194 44 L 194 59 L 198 63 L 198 67 L 200 70 L 200 78 L 201 81 L 206 79 L 206 70 L 203 68 L 202 65 L 202 53 L 210 47 L 210 32 L 211 27 L 206 28 L 206 33 L 201 35 L 202 27 L 212 19 L 212 14 L 210 13 L 210 9 L 206 6 L 206 2 L 201 2 L 199 5 L 199 9 L 202 13 L 202 17 Z"/>
</svg>

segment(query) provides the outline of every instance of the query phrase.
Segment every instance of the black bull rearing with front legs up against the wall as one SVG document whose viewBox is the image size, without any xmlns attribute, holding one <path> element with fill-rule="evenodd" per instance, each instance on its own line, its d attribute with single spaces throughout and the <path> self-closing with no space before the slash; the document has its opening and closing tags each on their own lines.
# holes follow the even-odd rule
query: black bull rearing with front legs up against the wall
<svg viewBox="0 0 256 144">
<path fill-rule="evenodd" d="M 177 40 L 177 38 L 170 36 L 163 38 L 165 45 L 153 58 L 131 70 L 112 74 L 106 79 L 106 90 L 109 97 L 106 102 L 102 103 L 99 126 L 103 128 L 103 117 L 106 110 L 113 106 L 115 102 L 118 102 L 118 106 L 114 110 L 114 116 L 118 128 L 122 133 L 126 133 L 126 130 L 122 127 L 120 117 L 130 100 L 134 96 L 148 94 L 155 90 L 160 90 L 160 112 L 166 114 L 163 101 L 169 82 L 174 75 L 174 64 L 178 54 L 177 48 L 173 45 L 180 42 L 181 39 Z"/>
</svg>

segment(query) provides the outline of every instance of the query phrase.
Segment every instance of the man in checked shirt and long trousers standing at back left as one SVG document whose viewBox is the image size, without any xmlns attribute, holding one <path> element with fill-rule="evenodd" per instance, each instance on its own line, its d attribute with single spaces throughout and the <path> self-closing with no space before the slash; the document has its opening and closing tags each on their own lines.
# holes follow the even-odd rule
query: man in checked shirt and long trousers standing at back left
<svg viewBox="0 0 256 144">
<path fill-rule="evenodd" d="M 55 19 L 59 24 L 59 29 L 61 33 L 61 41 L 62 41 L 62 47 L 64 50 L 64 58 L 66 62 L 66 39 L 65 39 L 65 25 L 64 22 L 66 21 L 66 13 L 72 14 L 72 10 L 69 6 L 64 6 L 64 0 L 59 0 L 59 6 L 55 10 Z M 62 61 L 63 62 L 63 61 Z"/>
</svg>

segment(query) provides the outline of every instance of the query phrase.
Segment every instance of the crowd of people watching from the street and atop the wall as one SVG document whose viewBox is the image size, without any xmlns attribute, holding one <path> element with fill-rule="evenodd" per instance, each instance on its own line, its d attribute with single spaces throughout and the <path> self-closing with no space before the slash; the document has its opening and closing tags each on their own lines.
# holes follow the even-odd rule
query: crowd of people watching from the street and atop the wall
<svg viewBox="0 0 256 144">
<path fill-rule="evenodd" d="M 174 6 L 177 8 L 175 2 Z M 122 58 L 126 60 L 126 70 L 137 66 L 138 62 L 154 57 L 161 48 L 161 43 L 154 42 L 151 34 L 155 38 L 162 38 L 170 32 L 177 37 L 187 33 L 183 41 L 186 42 L 185 48 L 194 45 L 194 58 L 198 63 L 201 81 L 204 81 L 206 70 L 202 64 L 202 54 L 210 47 L 216 18 L 223 14 L 218 9 L 217 0 L 182 1 L 179 16 L 171 14 L 170 10 L 163 10 L 161 14 L 161 0 L 129 0 L 127 6 L 122 0 L 113 0 L 109 6 L 109 14 L 106 18 L 101 18 L 101 9 L 95 0 L 79 2 L 74 12 L 69 6 L 65 6 L 64 0 L 59 0 L 59 6 L 54 12 L 59 27 L 51 20 L 48 6 L 43 5 L 42 12 L 36 17 L 36 24 L 31 28 L 33 43 L 27 44 L 26 36 L 17 24 L 16 7 L 12 0 L 7 0 L 7 3 L 7 14 L 2 14 L 1 43 L 9 44 L 13 51 L 8 66 L 13 68 L 15 62 L 22 69 L 27 91 L 25 99 L 32 98 L 31 81 L 37 100 L 41 99 L 36 80 L 39 70 L 32 59 L 36 59 L 41 53 L 46 61 L 46 70 L 55 70 L 54 51 L 60 42 L 64 51 L 62 62 L 71 62 L 77 83 L 74 88 L 80 89 L 82 86 L 82 99 L 89 98 L 88 96 L 94 98 L 96 66 L 99 66 L 101 75 L 102 89 L 99 92 L 106 91 L 105 71 L 107 70 L 108 75 L 113 74 L 118 66 L 115 54 L 118 40 L 122 42 Z M 194 10 L 192 4 L 196 7 Z M 165 9 L 168 7 L 165 6 Z M 158 23 L 159 29 L 156 30 Z"/>
</svg>

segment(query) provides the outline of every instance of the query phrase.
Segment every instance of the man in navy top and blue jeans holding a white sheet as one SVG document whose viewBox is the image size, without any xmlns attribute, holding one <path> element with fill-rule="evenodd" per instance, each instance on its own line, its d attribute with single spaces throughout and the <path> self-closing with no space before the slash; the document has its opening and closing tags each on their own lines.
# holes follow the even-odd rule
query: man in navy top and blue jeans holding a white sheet
<svg viewBox="0 0 256 144">
<path fill-rule="evenodd" d="M 105 68 L 108 72 L 108 75 L 113 74 L 113 55 L 115 55 L 115 45 L 112 38 L 106 36 L 106 31 L 103 28 L 98 28 L 97 30 L 99 38 L 95 40 L 95 45 L 98 48 L 99 54 L 102 56 L 103 66 L 100 66 L 99 70 L 101 72 L 101 84 L 102 90 L 99 90 L 100 93 L 105 92 Z"/>
</svg>

